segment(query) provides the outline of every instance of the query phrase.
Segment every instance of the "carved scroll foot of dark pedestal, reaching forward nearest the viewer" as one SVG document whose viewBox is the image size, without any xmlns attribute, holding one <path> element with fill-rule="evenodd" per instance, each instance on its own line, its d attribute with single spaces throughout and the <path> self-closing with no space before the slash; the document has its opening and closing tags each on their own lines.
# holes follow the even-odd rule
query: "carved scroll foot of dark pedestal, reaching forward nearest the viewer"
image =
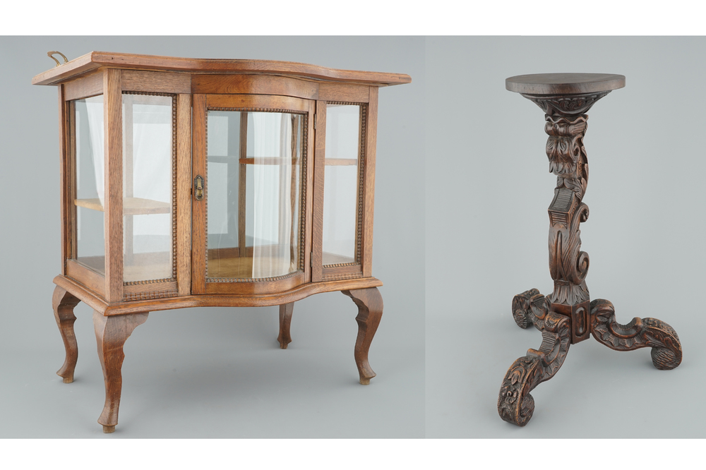
<svg viewBox="0 0 706 470">
<path fill-rule="evenodd" d="M 548 309 L 539 314 L 542 345 L 539 350 L 529 349 L 527 356 L 518 358 L 510 366 L 498 395 L 498 414 L 503 420 L 517 426 L 525 426 L 532 418 L 534 398 L 530 392 L 540 383 L 554 377 L 571 343 L 570 321 L 566 315 Z"/>
</svg>

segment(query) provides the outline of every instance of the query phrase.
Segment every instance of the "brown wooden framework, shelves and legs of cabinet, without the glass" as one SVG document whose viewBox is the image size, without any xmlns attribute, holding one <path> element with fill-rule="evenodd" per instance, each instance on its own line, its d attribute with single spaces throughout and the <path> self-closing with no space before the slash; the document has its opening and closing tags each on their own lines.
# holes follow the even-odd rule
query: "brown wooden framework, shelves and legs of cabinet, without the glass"
<svg viewBox="0 0 706 470">
<path fill-rule="evenodd" d="M 383 301 L 377 289 L 382 282 L 371 275 L 378 87 L 410 81 L 409 76 L 396 73 L 342 71 L 293 62 L 179 59 L 104 52 L 91 52 L 32 80 L 38 85 L 59 87 L 63 266 L 61 275 L 54 278 L 56 289 L 52 299 L 66 349 L 66 360 L 59 375 L 65 382 L 73 380 L 78 358 L 73 308 L 83 301 L 94 310 L 97 349 L 106 391 L 104 409 L 98 420 L 104 432 L 113 432 L 118 422 L 124 343 L 152 311 L 201 306 L 276 305 L 280 308 L 277 341 L 282 349 L 286 349 L 292 341 L 289 326 L 294 302 L 320 292 L 342 291 L 358 306 L 359 331 L 354 358 L 361 384 L 369 383 L 375 376 L 368 362 L 369 347 L 383 311 Z M 167 207 L 169 204 L 140 198 L 139 194 L 133 193 L 132 176 L 138 167 L 133 167 L 130 158 L 132 112 L 129 107 L 123 112 L 124 92 L 175 97 L 172 151 L 176 152 L 176 161 L 171 175 L 171 210 Z M 95 95 L 103 95 L 104 109 L 102 202 L 78 200 L 76 195 L 76 112 L 73 101 Z M 325 161 L 326 102 L 360 104 L 365 112 L 361 113 L 361 203 L 357 214 L 357 254 L 360 259 L 356 263 L 342 260 L 324 267 L 321 240 L 324 167 L 327 164 L 356 165 L 359 161 L 340 158 Z M 232 260 L 248 263 L 247 258 L 253 256 L 253 249 L 245 243 L 246 165 L 253 163 L 247 155 L 246 139 L 243 138 L 248 132 L 246 120 L 241 120 L 241 147 L 229 149 L 229 155 L 239 155 L 240 159 L 234 165 L 239 169 L 239 175 L 229 174 L 229 177 L 237 177 L 240 183 L 239 243 L 237 247 L 218 253 L 213 249 L 207 251 L 205 143 L 209 108 L 293 112 L 295 127 L 297 122 L 306 119 L 300 148 L 294 147 L 297 140 L 292 138 L 293 154 L 306 155 L 306 158 L 293 162 L 301 170 L 302 187 L 301 195 L 297 195 L 301 206 L 297 215 L 301 230 L 296 236 L 300 239 L 299 260 L 302 261 L 297 272 L 268 279 L 242 279 L 244 282 L 207 277 L 207 257 L 223 255 L 232 258 L 227 260 L 229 263 Z M 125 162 L 124 151 L 127 155 Z M 271 163 L 279 162 L 273 159 Z M 193 182 L 197 176 L 201 176 L 202 186 L 199 191 L 194 191 Z M 198 200 L 197 195 L 200 196 Z M 294 192 L 290 196 L 294 211 Z M 77 205 L 104 212 L 104 255 L 76 259 Z M 133 264 L 164 263 L 162 258 L 169 253 L 133 253 L 133 222 L 131 217 L 124 220 L 124 216 L 157 213 L 172 216 L 172 253 L 176 272 L 168 279 L 149 279 L 146 275 L 146 279 L 125 283 L 124 259 L 128 260 L 129 276 Z M 234 226 L 234 221 L 229 223 Z M 293 238 L 290 243 L 292 241 Z"/>
</svg>

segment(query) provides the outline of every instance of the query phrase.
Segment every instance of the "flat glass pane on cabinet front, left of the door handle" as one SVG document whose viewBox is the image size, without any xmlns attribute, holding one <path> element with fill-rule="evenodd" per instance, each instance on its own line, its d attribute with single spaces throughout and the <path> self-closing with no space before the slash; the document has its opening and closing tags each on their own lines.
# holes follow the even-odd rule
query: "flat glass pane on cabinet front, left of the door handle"
<svg viewBox="0 0 706 470">
<path fill-rule="evenodd" d="M 172 96 L 123 97 L 123 280 L 174 277 Z"/>
</svg>

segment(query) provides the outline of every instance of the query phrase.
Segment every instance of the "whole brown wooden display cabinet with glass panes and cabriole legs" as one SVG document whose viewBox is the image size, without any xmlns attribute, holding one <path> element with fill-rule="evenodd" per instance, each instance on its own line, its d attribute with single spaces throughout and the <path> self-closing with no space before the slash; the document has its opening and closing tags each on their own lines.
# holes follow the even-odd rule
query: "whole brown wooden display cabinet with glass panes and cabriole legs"
<svg viewBox="0 0 706 470">
<path fill-rule="evenodd" d="M 123 345 L 152 311 L 280 306 L 286 349 L 294 302 L 342 291 L 358 306 L 354 356 L 370 382 L 383 313 L 371 269 L 378 88 L 410 82 L 109 52 L 35 76 L 59 89 L 58 374 L 73 381 L 83 301 L 95 311 L 104 432 L 118 423 Z"/>
</svg>

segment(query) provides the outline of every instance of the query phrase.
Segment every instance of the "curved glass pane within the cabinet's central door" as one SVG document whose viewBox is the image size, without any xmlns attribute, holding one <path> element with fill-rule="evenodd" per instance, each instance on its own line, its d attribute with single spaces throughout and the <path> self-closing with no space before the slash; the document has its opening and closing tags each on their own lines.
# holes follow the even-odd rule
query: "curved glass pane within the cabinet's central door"
<svg viewBox="0 0 706 470">
<path fill-rule="evenodd" d="M 208 278 L 279 277 L 301 266 L 304 116 L 208 111 Z"/>
</svg>

